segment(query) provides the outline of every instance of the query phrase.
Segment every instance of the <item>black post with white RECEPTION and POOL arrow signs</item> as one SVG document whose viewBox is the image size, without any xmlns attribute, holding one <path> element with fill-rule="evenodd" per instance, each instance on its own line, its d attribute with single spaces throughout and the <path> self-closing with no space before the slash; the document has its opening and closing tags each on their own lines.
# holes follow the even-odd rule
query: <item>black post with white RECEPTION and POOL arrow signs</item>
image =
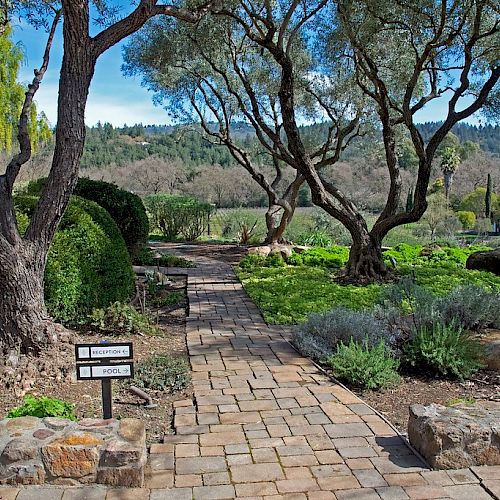
<svg viewBox="0 0 500 500">
<path fill-rule="evenodd" d="M 76 344 L 77 380 L 100 380 L 102 389 L 102 414 L 104 419 L 113 417 L 111 381 L 134 376 L 134 350 L 132 342 L 111 344 Z M 115 360 L 130 360 L 117 362 Z"/>
</svg>

